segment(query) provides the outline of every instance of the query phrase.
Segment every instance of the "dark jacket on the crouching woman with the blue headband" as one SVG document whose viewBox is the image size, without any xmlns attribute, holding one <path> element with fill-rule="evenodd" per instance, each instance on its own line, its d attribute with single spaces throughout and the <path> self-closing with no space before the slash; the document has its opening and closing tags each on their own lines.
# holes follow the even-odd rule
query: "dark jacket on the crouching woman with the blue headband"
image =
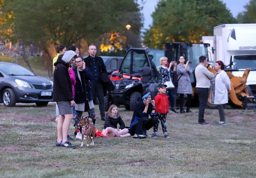
<svg viewBox="0 0 256 178">
<path fill-rule="evenodd" d="M 149 106 L 147 108 L 147 113 L 143 113 L 144 109 L 145 109 L 145 105 L 143 103 L 143 101 L 140 102 L 136 102 L 135 106 L 134 106 L 134 111 L 133 111 L 133 118 L 131 119 L 131 123 L 133 123 L 135 117 L 137 117 L 138 119 L 143 118 L 143 117 L 149 117 L 149 115 L 152 117 L 154 117 L 154 115 L 151 115 L 152 110 L 153 110 L 153 106 L 151 103 L 149 103 Z"/>
</svg>

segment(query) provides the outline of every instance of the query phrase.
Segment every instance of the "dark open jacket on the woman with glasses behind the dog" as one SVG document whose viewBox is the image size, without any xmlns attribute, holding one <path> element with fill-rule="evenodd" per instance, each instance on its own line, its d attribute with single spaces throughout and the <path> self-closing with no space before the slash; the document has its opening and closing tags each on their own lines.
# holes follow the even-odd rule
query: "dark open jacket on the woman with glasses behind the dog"
<svg viewBox="0 0 256 178">
<path fill-rule="evenodd" d="M 84 103 L 86 100 L 91 101 L 92 100 L 92 89 L 89 85 L 89 80 L 92 79 L 92 73 L 89 67 L 85 67 L 83 70 L 84 72 L 84 85 L 86 87 L 86 97 L 84 96 L 83 92 L 83 86 L 82 83 L 78 77 L 77 67 L 73 68 L 73 71 L 76 76 L 76 85 L 75 85 L 75 103 Z M 80 76 L 81 77 L 81 76 Z"/>
</svg>

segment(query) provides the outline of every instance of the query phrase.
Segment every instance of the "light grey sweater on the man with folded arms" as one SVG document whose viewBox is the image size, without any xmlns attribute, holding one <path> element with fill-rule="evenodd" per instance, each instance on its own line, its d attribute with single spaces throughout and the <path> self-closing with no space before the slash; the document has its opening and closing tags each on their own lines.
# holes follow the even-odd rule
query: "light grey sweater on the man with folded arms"
<svg viewBox="0 0 256 178">
<path fill-rule="evenodd" d="M 200 64 L 196 66 L 194 73 L 196 75 L 197 88 L 210 88 L 211 79 L 214 77 L 213 73 L 211 73 L 206 67 Z"/>
</svg>

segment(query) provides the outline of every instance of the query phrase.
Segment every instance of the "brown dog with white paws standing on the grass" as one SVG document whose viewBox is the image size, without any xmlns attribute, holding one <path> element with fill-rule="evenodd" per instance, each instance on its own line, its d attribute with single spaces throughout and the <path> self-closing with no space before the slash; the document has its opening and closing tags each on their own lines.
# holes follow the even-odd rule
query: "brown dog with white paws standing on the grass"
<svg viewBox="0 0 256 178">
<path fill-rule="evenodd" d="M 84 146 L 84 134 L 86 135 L 86 145 L 89 146 L 89 138 L 91 139 L 91 144 L 94 145 L 94 137 L 95 137 L 95 126 L 92 123 L 92 118 L 88 118 L 89 123 L 87 122 L 87 117 L 82 117 L 77 126 L 82 127 L 82 144 L 80 147 Z M 91 138 L 92 134 L 92 138 Z"/>
</svg>

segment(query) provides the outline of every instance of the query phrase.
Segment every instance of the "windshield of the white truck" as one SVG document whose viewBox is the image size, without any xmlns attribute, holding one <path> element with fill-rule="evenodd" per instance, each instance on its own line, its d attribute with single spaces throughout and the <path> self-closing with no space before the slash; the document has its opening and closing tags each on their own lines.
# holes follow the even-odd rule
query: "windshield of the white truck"
<svg viewBox="0 0 256 178">
<path fill-rule="evenodd" d="M 256 55 L 234 56 L 234 61 L 236 62 L 235 67 L 238 69 L 251 68 L 251 70 L 256 70 Z"/>
</svg>

